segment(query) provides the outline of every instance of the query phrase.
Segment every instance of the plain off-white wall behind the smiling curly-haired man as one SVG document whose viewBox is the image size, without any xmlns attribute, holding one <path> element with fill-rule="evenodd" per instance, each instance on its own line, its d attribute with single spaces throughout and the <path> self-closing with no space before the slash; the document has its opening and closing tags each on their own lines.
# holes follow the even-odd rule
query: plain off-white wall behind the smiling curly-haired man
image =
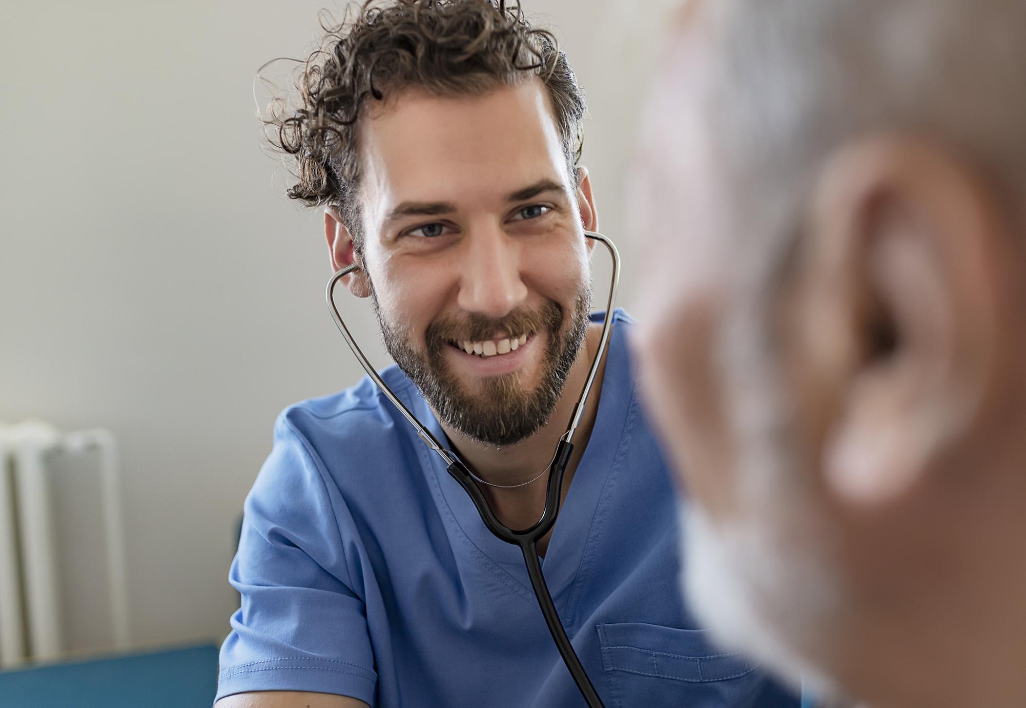
<svg viewBox="0 0 1026 708">
<path fill-rule="evenodd" d="M 360 373 L 323 303 L 319 214 L 272 180 L 251 97 L 265 61 L 305 53 L 322 3 L 6 5 L 0 420 L 111 429 L 134 643 L 220 639 L 235 519 L 274 417 Z M 587 89 L 585 161 L 629 307 L 620 174 L 649 43 L 632 3 L 525 6 L 561 28 Z"/>
</svg>

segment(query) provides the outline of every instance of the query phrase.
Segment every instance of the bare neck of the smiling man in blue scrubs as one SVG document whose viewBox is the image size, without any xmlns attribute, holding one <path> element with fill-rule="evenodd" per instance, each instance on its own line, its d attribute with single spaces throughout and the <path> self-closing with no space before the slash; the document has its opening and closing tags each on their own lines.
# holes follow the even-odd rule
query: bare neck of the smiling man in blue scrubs
<svg viewBox="0 0 1026 708">
<path fill-rule="evenodd" d="M 513 445 L 495 447 L 473 440 L 458 430 L 442 424 L 442 430 L 448 436 L 460 458 L 481 479 L 491 484 L 522 484 L 537 477 L 552 462 L 559 438 L 566 432 L 574 415 L 581 390 L 584 388 L 591 369 L 592 360 L 598 351 L 601 337 L 601 325 L 592 324 L 588 328 L 584 346 L 577 360 L 570 367 L 563 392 L 556 407 L 546 425 L 530 437 Z M 605 369 L 605 357 L 599 364 L 598 372 L 592 384 L 591 393 L 581 417 L 581 424 L 574 434 L 574 451 L 566 465 L 563 477 L 563 496 L 569 487 L 577 466 L 584 455 L 591 429 L 595 424 L 598 411 L 598 399 L 602 386 L 602 373 Z M 524 486 L 503 489 L 481 485 L 485 498 L 499 519 L 511 528 L 526 528 L 538 521 L 545 508 L 545 489 L 548 475 Z"/>
</svg>

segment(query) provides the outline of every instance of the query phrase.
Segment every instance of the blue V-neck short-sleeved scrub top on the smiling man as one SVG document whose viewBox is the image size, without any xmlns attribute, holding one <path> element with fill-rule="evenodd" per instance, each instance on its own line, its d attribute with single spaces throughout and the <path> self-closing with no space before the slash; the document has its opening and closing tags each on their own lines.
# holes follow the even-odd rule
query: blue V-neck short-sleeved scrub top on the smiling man
<svg viewBox="0 0 1026 708">
<path fill-rule="evenodd" d="M 675 498 L 639 409 L 629 326 L 618 311 L 595 426 L 543 562 L 559 617 L 608 708 L 798 708 L 744 657 L 710 645 L 682 606 Z M 444 440 L 405 375 L 384 377 Z M 368 379 L 279 417 L 231 582 L 242 603 L 221 650 L 219 699 L 586 705 L 519 549 L 485 528 Z"/>
</svg>

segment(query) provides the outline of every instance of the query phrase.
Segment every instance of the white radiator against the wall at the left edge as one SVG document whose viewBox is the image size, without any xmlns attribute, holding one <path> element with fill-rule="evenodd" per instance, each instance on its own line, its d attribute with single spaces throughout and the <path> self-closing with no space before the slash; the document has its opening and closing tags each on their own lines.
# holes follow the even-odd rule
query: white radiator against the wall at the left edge
<svg viewBox="0 0 1026 708">
<path fill-rule="evenodd" d="M 0 425 L 0 668 L 128 648 L 114 437 Z"/>
</svg>

